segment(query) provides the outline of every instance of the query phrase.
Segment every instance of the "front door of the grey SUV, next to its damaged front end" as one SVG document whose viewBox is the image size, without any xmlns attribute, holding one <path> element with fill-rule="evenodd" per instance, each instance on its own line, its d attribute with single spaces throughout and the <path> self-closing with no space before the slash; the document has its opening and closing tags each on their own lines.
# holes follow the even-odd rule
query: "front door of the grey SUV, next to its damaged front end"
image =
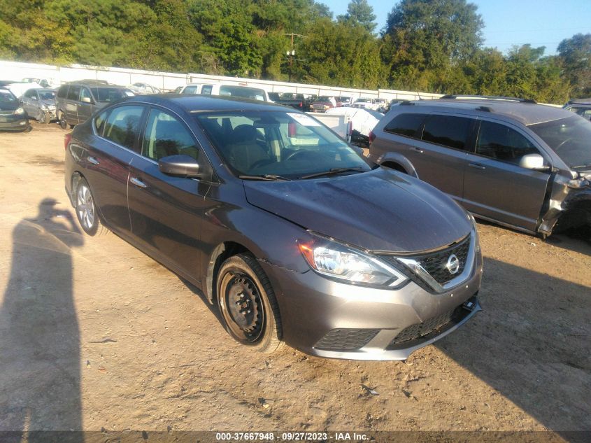
<svg viewBox="0 0 591 443">
<path fill-rule="evenodd" d="M 550 172 L 519 166 L 527 154 L 549 157 L 520 128 L 482 120 L 474 153 L 467 156 L 464 206 L 480 216 L 535 231 Z"/>
</svg>

